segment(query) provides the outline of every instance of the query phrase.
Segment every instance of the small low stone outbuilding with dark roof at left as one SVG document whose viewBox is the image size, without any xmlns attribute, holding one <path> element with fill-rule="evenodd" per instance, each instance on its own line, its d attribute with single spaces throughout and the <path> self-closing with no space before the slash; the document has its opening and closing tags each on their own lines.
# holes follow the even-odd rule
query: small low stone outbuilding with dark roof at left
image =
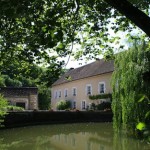
<svg viewBox="0 0 150 150">
<path fill-rule="evenodd" d="M 38 89 L 36 87 L 0 87 L 0 94 L 13 106 L 25 110 L 38 109 Z"/>
</svg>

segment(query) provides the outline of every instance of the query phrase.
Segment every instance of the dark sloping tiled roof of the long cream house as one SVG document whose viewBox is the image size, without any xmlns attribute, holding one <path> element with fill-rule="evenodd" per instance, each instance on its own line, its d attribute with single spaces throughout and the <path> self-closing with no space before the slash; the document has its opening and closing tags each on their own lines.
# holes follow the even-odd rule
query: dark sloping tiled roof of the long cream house
<svg viewBox="0 0 150 150">
<path fill-rule="evenodd" d="M 76 68 L 71 69 L 65 73 L 60 79 L 58 79 L 53 86 L 67 83 L 74 80 L 79 80 L 91 76 L 105 74 L 114 71 L 114 61 L 106 61 L 104 59 L 96 60 L 95 62 Z"/>
</svg>

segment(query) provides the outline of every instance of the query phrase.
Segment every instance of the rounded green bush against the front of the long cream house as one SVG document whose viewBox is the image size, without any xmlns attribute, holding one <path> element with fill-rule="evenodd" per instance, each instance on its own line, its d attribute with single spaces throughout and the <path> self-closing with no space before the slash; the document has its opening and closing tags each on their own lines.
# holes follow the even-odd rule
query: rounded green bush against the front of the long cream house
<svg viewBox="0 0 150 150">
<path fill-rule="evenodd" d="M 61 100 L 57 103 L 58 110 L 66 110 L 71 107 L 71 102 L 66 100 Z"/>
</svg>

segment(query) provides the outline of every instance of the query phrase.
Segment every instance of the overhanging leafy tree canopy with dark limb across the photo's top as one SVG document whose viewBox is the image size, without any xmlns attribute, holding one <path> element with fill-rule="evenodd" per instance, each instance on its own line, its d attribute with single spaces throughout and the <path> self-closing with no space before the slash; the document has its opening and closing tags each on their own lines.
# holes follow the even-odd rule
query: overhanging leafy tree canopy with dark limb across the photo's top
<svg viewBox="0 0 150 150">
<path fill-rule="evenodd" d="M 83 45 L 84 55 L 98 55 L 112 49 L 108 43 L 119 38 L 110 36 L 110 27 L 117 33 L 138 26 L 150 36 L 149 4 L 145 0 L 1 0 L 0 58 L 44 59 L 51 64 L 72 53 L 70 43 Z M 82 33 L 89 35 L 82 38 Z"/>
</svg>

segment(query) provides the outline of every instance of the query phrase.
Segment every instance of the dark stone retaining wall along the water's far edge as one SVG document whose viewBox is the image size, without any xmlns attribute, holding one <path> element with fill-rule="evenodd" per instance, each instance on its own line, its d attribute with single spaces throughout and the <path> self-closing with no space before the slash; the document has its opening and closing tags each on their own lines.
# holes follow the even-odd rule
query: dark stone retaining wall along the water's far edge
<svg viewBox="0 0 150 150">
<path fill-rule="evenodd" d="M 5 128 L 13 128 L 40 124 L 112 122 L 112 118 L 113 114 L 111 111 L 23 111 L 9 112 L 5 116 L 3 125 Z"/>
</svg>

